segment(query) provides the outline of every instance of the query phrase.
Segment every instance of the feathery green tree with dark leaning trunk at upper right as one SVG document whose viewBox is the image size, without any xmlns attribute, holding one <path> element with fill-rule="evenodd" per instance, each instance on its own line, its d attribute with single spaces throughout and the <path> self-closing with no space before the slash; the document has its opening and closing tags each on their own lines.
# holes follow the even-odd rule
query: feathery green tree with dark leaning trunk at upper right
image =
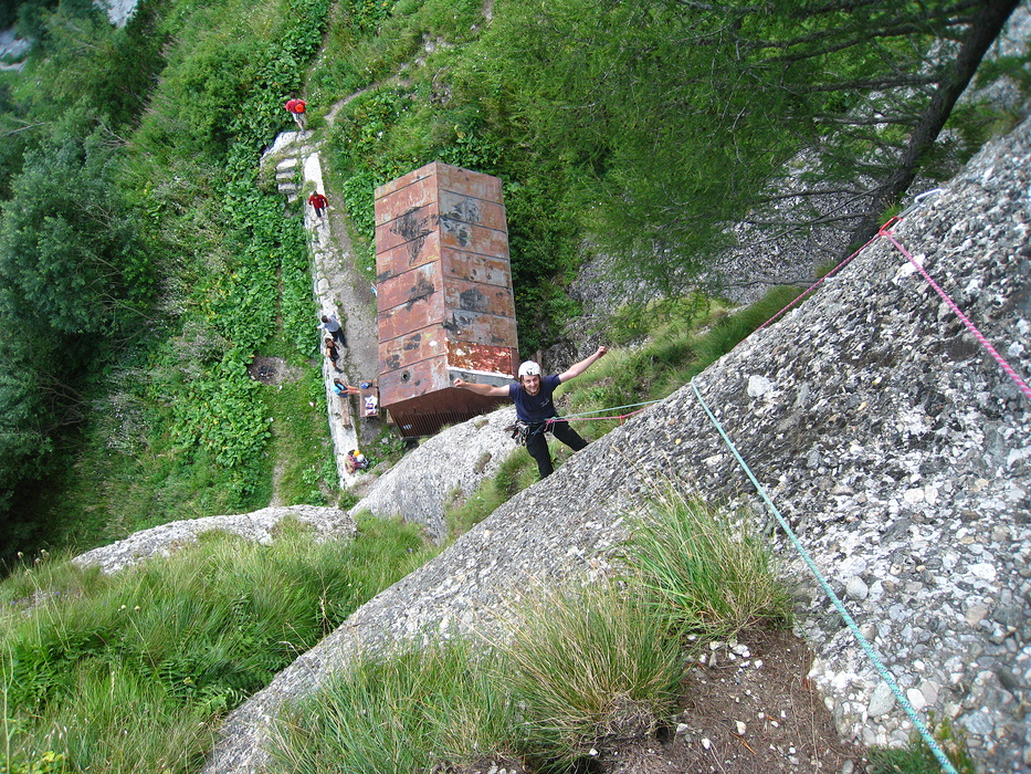
<svg viewBox="0 0 1031 774">
<path fill-rule="evenodd" d="M 578 169 L 595 240 L 662 284 L 706 266 L 741 220 L 876 218 L 1017 2 L 508 2 L 485 51 L 518 55 L 483 66 L 530 144 Z"/>
</svg>

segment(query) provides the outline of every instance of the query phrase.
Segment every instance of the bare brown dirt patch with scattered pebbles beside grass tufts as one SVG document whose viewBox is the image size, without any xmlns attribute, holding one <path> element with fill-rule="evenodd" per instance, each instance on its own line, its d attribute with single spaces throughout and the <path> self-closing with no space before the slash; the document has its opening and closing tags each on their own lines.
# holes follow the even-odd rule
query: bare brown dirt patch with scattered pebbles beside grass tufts
<svg viewBox="0 0 1031 774">
<path fill-rule="evenodd" d="M 739 638 L 694 669 L 675 724 L 600 744 L 575 774 L 861 774 L 863 750 L 842 742 L 806 678 L 812 655 L 790 631 Z M 744 646 L 744 648 L 741 647 Z M 745 650 L 747 648 L 747 650 Z M 712 653 L 709 653 L 709 657 Z M 759 666 L 761 662 L 761 666 Z M 533 774 L 526 761 L 493 760 L 455 774 Z"/>
</svg>

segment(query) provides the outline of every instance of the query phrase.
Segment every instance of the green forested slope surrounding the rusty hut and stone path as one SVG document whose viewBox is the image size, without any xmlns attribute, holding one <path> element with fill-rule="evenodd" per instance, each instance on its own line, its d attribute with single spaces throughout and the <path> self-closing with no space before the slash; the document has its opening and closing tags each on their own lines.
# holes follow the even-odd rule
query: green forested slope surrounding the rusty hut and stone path
<svg viewBox="0 0 1031 774">
<path fill-rule="evenodd" d="M 745 240 L 801 240 L 813 271 L 863 243 L 1024 117 L 1027 46 L 998 43 L 1020 6 L 143 0 L 116 27 L 4 0 L 32 48 L 0 71 L 0 562 L 262 508 L 276 464 L 296 502 L 336 485 L 317 380 L 246 373 L 315 355 L 305 234 L 259 170 L 287 98 L 365 260 L 377 185 L 438 159 L 503 179 L 533 352 L 599 255 L 643 310 L 720 294 Z"/>
</svg>

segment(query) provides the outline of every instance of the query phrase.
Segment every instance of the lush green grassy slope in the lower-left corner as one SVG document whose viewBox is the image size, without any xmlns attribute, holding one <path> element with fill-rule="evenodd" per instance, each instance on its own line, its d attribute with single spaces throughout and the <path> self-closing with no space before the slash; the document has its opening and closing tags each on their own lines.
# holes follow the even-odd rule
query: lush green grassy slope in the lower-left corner
<svg viewBox="0 0 1031 774">
<path fill-rule="evenodd" d="M 15 569 L 0 585 L 7 760 L 196 771 L 229 710 L 433 555 L 414 526 L 359 526 L 355 541 L 317 543 L 286 525 L 270 546 L 210 533 L 114 576 Z"/>
</svg>

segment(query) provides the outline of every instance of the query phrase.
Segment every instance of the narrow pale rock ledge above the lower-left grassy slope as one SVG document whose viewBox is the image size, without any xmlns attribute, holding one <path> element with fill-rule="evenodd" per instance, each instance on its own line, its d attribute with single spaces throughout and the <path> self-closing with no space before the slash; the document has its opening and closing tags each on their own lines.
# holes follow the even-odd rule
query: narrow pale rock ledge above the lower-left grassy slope
<svg viewBox="0 0 1031 774">
<path fill-rule="evenodd" d="M 320 537 L 350 537 L 357 532 L 355 520 L 337 508 L 290 505 L 265 508 L 234 516 L 183 519 L 144 530 L 123 541 L 94 548 L 73 559 L 82 566 L 99 566 L 105 573 L 117 573 L 154 556 L 168 556 L 176 548 L 197 543 L 197 536 L 214 530 L 230 532 L 257 543 L 270 543 L 280 522 L 296 519 L 312 527 Z"/>
</svg>

